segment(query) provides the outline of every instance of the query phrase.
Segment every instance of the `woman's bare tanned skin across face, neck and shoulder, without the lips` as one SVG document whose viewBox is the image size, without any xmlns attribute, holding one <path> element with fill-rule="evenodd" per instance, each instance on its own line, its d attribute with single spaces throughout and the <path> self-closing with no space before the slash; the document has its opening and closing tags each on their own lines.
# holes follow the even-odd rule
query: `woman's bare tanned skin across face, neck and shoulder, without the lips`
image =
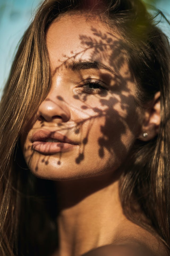
<svg viewBox="0 0 170 256">
<path fill-rule="evenodd" d="M 53 256 L 94 256 L 105 248 L 102 255 L 133 255 L 134 245 L 134 250 L 119 245 L 129 238 L 142 241 L 152 252 L 163 250 L 153 235 L 125 217 L 120 203 L 121 166 L 144 128 L 152 124 L 153 130 L 151 115 L 137 105 L 128 64 L 117 54 L 120 42 L 116 32 L 110 34 L 99 20 L 83 15 L 58 18 L 46 33 L 52 85 L 21 144 L 32 173 L 57 185 L 60 244 Z M 73 68 L 73 62 L 94 61 L 108 69 Z M 40 129 L 60 131 L 78 145 L 56 154 L 39 153 L 30 138 Z"/>
</svg>

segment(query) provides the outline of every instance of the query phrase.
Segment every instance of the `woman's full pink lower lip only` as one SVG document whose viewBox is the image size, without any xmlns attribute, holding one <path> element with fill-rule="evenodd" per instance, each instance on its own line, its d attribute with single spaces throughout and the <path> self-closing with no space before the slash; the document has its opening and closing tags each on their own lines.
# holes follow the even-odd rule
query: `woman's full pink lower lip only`
<svg viewBox="0 0 170 256">
<path fill-rule="evenodd" d="M 55 154 L 73 149 L 77 145 L 65 142 L 45 142 L 35 141 L 32 143 L 32 149 L 42 154 Z"/>
</svg>

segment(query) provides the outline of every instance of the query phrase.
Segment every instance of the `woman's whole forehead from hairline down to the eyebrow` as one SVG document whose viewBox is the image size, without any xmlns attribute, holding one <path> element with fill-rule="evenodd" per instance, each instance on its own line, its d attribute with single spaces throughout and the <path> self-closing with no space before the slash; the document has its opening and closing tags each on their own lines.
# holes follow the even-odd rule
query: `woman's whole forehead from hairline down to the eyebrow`
<svg viewBox="0 0 170 256">
<path fill-rule="evenodd" d="M 125 64 L 120 36 L 97 17 L 87 19 L 80 14 L 58 17 L 47 30 L 46 43 L 52 69 L 71 59 L 102 61 L 114 68 Z"/>
</svg>

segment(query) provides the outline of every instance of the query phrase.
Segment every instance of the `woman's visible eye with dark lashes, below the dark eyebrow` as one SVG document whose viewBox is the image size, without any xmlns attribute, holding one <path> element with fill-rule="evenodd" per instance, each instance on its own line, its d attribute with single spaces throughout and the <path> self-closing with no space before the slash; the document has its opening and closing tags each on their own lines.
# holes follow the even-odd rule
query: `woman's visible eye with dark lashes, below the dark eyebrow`
<svg viewBox="0 0 170 256">
<path fill-rule="evenodd" d="M 87 88 L 87 86 L 89 86 L 89 88 Z M 86 84 L 84 84 L 83 86 L 83 92 L 85 93 L 92 93 L 92 94 L 100 94 L 103 91 L 106 90 L 106 88 L 103 86 L 103 83 L 101 82 L 95 82 L 95 81 L 88 81 Z M 86 88 L 84 88 L 86 87 Z M 94 87 L 94 88 L 92 88 Z M 98 88 L 97 88 L 98 87 Z"/>
</svg>

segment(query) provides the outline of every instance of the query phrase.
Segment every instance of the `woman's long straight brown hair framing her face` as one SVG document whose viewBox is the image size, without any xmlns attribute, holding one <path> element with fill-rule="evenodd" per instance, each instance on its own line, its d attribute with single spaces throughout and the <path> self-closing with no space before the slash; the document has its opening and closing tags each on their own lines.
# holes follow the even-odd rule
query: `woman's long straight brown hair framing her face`
<svg viewBox="0 0 170 256">
<path fill-rule="evenodd" d="M 82 3 L 83 2 L 83 3 Z M 100 4 L 99 4 L 100 3 Z M 169 43 L 140 0 L 48 0 L 39 7 L 16 53 L 1 100 L 0 156 L 0 254 L 47 255 L 44 241 L 57 239 L 56 210 L 50 210 L 52 181 L 34 177 L 23 160 L 19 136 L 50 89 L 50 69 L 45 32 L 58 15 L 69 11 L 92 11 L 123 38 L 129 68 L 138 87 L 138 103 L 146 106 L 160 91 L 161 125 L 150 142 L 137 141 L 131 162 L 120 183 L 120 198 L 126 216 L 158 236 L 170 252 L 170 87 Z M 94 14 L 92 14 L 94 15 Z M 92 16 L 91 15 L 91 16 Z M 95 14 L 96 15 L 96 14 Z M 42 189 L 43 187 L 43 189 Z M 138 202 L 148 221 L 139 219 Z M 41 235 L 40 235 L 41 234 Z M 52 239 L 53 238 L 53 239 Z"/>
</svg>

